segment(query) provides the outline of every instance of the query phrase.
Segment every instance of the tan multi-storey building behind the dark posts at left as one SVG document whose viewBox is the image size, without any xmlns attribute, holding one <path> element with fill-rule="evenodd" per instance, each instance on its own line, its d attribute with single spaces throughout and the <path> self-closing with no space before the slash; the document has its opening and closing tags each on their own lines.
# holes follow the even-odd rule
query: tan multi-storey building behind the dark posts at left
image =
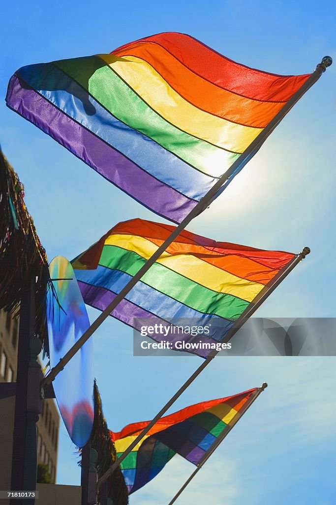
<svg viewBox="0 0 336 505">
<path fill-rule="evenodd" d="M 0 382 L 16 382 L 19 321 L 0 311 Z M 56 480 L 59 414 L 53 399 L 43 401 L 37 423 L 37 463 L 47 465 Z"/>
</svg>

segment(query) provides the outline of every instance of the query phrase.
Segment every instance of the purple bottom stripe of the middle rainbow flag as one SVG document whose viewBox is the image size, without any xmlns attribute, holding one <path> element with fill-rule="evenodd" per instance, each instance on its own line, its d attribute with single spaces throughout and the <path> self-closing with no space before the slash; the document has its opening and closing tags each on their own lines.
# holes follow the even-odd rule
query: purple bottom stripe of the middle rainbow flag
<svg viewBox="0 0 336 505">
<path fill-rule="evenodd" d="M 93 286 L 90 284 L 85 284 L 84 282 L 81 282 L 78 280 L 78 285 L 80 287 L 83 299 L 86 304 L 90 305 L 91 307 L 94 307 L 95 309 L 99 309 L 103 311 L 106 309 L 106 307 L 111 303 L 112 300 L 116 297 L 116 293 L 109 291 L 108 289 L 102 288 L 102 287 L 97 287 Z M 163 324 L 164 326 L 167 326 L 166 321 L 163 319 L 160 319 L 157 316 L 154 316 L 150 312 L 142 309 L 141 307 L 138 307 L 135 304 L 132 304 L 132 302 L 126 300 L 123 298 L 117 307 L 114 309 L 114 311 L 111 313 L 111 316 L 115 317 L 116 319 L 119 319 L 119 321 L 122 321 L 123 323 L 128 324 L 132 328 L 136 328 L 137 330 L 140 331 L 140 327 L 136 327 L 136 322 L 134 321 L 133 318 L 151 318 L 151 325 L 155 324 Z M 155 338 L 157 337 L 157 338 Z M 181 340 L 184 340 L 185 342 L 192 342 L 194 341 L 195 337 L 191 336 L 190 334 L 181 334 L 181 333 L 172 333 L 169 332 L 167 336 L 160 337 L 160 335 L 151 335 L 151 338 L 156 341 L 161 341 L 161 340 L 166 340 L 171 343 Z M 209 342 L 209 343 L 218 343 L 217 340 L 214 340 L 212 338 L 209 338 L 205 335 L 198 335 L 197 340 L 202 340 L 202 342 Z M 175 349 L 174 349 L 175 350 Z M 177 350 L 177 349 L 176 349 Z M 207 356 L 210 354 L 212 349 L 203 349 L 203 348 L 197 348 L 197 349 L 188 349 L 187 352 L 189 354 L 195 354 L 196 356 L 200 356 L 201 358 L 207 358 Z"/>
</svg>

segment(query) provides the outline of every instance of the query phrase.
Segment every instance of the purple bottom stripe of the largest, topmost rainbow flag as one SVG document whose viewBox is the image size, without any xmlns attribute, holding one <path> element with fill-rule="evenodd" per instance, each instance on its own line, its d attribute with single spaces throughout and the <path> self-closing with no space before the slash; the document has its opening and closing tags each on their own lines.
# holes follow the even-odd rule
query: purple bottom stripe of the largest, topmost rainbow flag
<svg viewBox="0 0 336 505">
<path fill-rule="evenodd" d="M 197 201 L 158 181 L 36 91 L 23 86 L 16 75 L 11 78 L 7 105 L 141 204 L 175 223 L 197 205 Z"/>
</svg>

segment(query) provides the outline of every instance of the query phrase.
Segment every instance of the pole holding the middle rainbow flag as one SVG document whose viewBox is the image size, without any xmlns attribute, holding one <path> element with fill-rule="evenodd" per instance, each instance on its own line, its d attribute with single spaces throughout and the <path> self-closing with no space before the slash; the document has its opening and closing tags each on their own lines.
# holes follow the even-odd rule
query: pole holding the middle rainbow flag
<svg viewBox="0 0 336 505">
<path fill-rule="evenodd" d="M 274 278 L 268 283 L 259 293 L 255 302 L 252 302 L 252 307 L 248 307 L 243 314 L 237 319 L 231 330 L 228 331 L 226 337 L 222 340 L 223 343 L 228 342 L 235 333 L 243 326 L 243 324 L 248 320 L 248 318 L 260 307 L 260 305 L 265 301 L 268 296 L 276 289 L 277 286 L 287 277 L 287 275 L 303 260 L 306 255 L 310 252 L 309 247 L 305 247 L 300 254 L 296 255 L 286 267 L 284 267 Z M 137 436 L 135 440 L 127 447 L 127 449 L 122 453 L 121 456 L 110 466 L 110 468 L 102 475 L 98 480 L 98 488 L 109 478 L 109 476 L 114 472 L 114 470 L 120 465 L 120 463 L 128 456 L 130 451 L 144 438 L 144 436 L 149 432 L 149 430 L 155 425 L 155 423 L 167 412 L 167 410 L 173 405 L 177 398 L 183 393 L 183 391 L 194 381 L 194 379 L 212 362 L 212 360 L 219 354 L 220 351 L 214 350 L 210 353 L 208 358 L 194 371 L 194 373 L 188 378 L 188 380 L 180 387 L 180 389 L 170 398 L 166 405 L 160 410 L 160 412 L 154 417 L 154 419 L 143 429 L 143 431 Z"/>
</svg>

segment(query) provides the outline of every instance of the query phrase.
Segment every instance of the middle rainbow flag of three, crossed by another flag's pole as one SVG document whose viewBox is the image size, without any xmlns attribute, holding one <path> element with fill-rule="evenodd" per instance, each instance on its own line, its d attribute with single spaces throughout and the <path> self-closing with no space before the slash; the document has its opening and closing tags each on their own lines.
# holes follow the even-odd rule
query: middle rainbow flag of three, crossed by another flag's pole
<svg viewBox="0 0 336 505">
<path fill-rule="evenodd" d="M 85 303 L 104 310 L 173 230 L 174 226 L 142 219 L 125 221 L 79 255 L 72 265 Z M 138 330 L 144 320 L 170 327 L 165 340 L 173 350 L 181 341 L 181 333 L 174 330 L 176 318 L 209 326 L 201 338 L 184 332 L 183 341 L 190 345 L 180 349 L 205 358 L 293 257 L 290 252 L 216 242 L 184 230 L 111 316 Z M 163 340 L 160 334 L 149 336 Z"/>
</svg>

